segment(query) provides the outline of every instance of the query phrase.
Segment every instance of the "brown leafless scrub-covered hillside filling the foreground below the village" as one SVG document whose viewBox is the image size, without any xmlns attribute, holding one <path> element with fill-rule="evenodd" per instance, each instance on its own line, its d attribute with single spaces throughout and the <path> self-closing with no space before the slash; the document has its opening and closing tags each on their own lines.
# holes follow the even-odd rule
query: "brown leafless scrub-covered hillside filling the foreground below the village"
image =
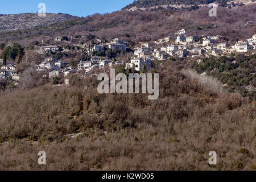
<svg viewBox="0 0 256 182">
<path fill-rule="evenodd" d="M 97 77 L 1 96 L 0 169 L 255 170 L 255 102 L 200 86 L 177 67 L 151 69 L 160 75 L 155 101 L 98 94 Z M 41 150 L 47 165 L 37 163 Z"/>
</svg>

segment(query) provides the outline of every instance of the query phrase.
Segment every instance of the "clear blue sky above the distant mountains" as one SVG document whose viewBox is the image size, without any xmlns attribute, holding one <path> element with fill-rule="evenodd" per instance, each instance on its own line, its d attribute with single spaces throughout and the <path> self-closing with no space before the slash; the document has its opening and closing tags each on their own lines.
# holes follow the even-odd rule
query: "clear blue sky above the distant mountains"
<svg viewBox="0 0 256 182">
<path fill-rule="evenodd" d="M 0 1 L 0 14 L 36 13 L 39 3 L 46 4 L 47 13 L 67 13 L 87 16 L 94 13 L 112 13 L 134 0 L 6 0 Z"/>
</svg>

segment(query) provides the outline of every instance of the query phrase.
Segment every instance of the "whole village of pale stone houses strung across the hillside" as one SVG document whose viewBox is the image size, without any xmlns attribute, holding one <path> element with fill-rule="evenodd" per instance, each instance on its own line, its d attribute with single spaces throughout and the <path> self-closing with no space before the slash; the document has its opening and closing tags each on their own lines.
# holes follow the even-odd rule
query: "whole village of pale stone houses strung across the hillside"
<svg viewBox="0 0 256 182">
<path fill-rule="evenodd" d="M 36 51 L 40 54 L 49 55 L 50 53 L 71 52 L 70 47 L 61 46 L 63 42 L 69 42 L 70 39 L 79 38 L 74 37 L 58 37 L 54 39 L 55 44 L 45 44 L 42 41 L 40 46 L 36 46 Z M 224 56 L 230 53 L 252 53 L 256 52 L 256 34 L 252 35 L 250 39 L 240 40 L 233 45 L 224 42 L 221 35 L 207 36 L 188 36 L 185 29 L 177 31 L 174 35 L 166 38 L 156 40 L 155 42 L 141 42 L 139 46 L 130 47 L 128 43 L 123 42 L 122 39 L 115 38 L 110 42 L 95 39 L 92 45 L 73 44 L 78 52 L 86 52 L 90 56 L 90 60 L 76 60 L 77 64 L 73 64 L 68 60 L 56 59 L 47 57 L 42 63 L 35 65 L 38 72 L 44 72 L 43 77 L 62 77 L 64 83 L 69 84 L 69 77 L 73 73 L 82 72 L 86 77 L 94 69 L 103 69 L 105 67 L 114 67 L 115 65 L 122 65 L 126 69 L 133 69 L 135 72 L 142 72 L 151 69 L 154 61 L 171 60 L 172 57 L 197 57 L 197 63 L 200 64 L 204 57 L 209 56 Z M 97 52 L 102 50 L 118 50 L 121 52 L 129 51 L 132 53 L 129 61 L 110 59 L 106 56 L 97 56 Z M 0 70 L 0 77 L 8 78 L 14 81 L 14 85 L 19 84 L 19 73 L 16 71 L 16 64 L 7 60 L 3 64 L 0 59 L 2 67 Z"/>
</svg>

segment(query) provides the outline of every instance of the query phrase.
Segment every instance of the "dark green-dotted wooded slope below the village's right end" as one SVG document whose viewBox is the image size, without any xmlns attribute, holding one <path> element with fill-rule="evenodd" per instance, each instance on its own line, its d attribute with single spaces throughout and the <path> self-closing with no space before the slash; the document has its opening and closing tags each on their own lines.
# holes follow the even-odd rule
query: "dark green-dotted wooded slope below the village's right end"
<svg viewBox="0 0 256 182">
<path fill-rule="evenodd" d="M 193 63 L 197 72 L 207 72 L 217 77 L 225 84 L 230 92 L 238 92 L 243 97 L 256 100 L 256 56 L 255 55 L 231 55 L 218 58 L 204 58 L 200 64 Z M 250 85 L 250 86 L 247 86 Z"/>
</svg>

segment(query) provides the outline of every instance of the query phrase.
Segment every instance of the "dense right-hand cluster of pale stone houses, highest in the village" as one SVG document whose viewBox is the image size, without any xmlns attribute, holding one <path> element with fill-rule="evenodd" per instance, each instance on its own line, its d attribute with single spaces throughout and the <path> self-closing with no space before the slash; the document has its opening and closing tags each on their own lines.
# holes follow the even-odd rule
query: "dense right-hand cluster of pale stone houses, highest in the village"
<svg viewBox="0 0 256 182">
<path fill-rule="evenodd" d="M 221 56 L 233 52 L 255 51 L 256 34 L 247 40 L 238 41 L 230 46 L 222 42 L 222 36 L 187 36 L 186 30 L 180 30 L 174 36 L 167 36 L 152 43 L 141 43 L 141 47 L 135 48 L 134 56 L 142 57 L 144 60 L 167 60 L 169 57 L 208 57 Z"/>
</svg>

